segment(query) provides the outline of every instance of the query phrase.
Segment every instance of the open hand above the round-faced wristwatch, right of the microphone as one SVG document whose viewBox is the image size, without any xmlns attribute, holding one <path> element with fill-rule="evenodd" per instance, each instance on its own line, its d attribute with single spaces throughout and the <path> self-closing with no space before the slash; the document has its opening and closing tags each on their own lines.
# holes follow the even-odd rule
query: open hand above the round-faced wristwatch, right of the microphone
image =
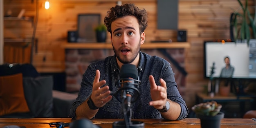
<svg viewBox="0 0 256 128">
<path fill-rule="evenodd" d="M 161 86 L 157 86 L 152 75 L 149 76 L 150 94 L 153 101 L 149 102 L 150 106 L 155 109 L 162 109 L 167 100 L 166 82 L 160 79 Z"/>
</svg>

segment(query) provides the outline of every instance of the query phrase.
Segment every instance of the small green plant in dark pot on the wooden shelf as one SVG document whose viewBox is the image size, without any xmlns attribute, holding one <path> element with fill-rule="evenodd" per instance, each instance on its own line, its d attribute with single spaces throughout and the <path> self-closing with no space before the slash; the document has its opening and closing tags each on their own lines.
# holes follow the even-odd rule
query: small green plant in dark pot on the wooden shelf
<svg viewBox="0 0 256 128">
<path fill-rule="evenodd" d="M 107 27 L 103 24 L 98 25 L 95 29 L 97 42 L 106 42 Z"/>
</svg>

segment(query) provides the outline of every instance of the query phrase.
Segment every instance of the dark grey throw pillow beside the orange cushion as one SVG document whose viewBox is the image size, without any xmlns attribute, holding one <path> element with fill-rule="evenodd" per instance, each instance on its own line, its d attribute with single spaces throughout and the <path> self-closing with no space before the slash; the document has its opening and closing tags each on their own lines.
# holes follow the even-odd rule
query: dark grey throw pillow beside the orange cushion
<svg viewBox="0 0 256 128">
<path fill-rule="evenodd" d="M 53 117 L 53 76 L 23 77 L 27 105 L 34 117 Z"/>
</svg>

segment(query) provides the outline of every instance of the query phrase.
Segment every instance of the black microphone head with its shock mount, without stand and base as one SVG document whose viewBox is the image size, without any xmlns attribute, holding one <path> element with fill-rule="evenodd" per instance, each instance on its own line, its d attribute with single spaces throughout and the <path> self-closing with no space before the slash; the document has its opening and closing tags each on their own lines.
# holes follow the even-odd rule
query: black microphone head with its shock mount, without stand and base
<svg viewBox="0 0 256 128">
<path fill-rule="evenodd" d="M 130 103 L 139 98 L 140 80 L 136 66 L 132 64 L 122 65 L 119 77 L 120 79 L 117 81 L 119 89 L 115 97 L 121 103 L 126 100 L 127 105 L 130 106 Z"/>
</svg>

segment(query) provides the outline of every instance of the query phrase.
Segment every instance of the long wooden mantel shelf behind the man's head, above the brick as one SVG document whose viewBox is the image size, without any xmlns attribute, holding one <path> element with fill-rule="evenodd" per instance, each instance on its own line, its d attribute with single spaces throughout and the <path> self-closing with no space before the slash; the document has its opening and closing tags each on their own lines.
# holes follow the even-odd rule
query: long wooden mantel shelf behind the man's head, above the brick
<svg viewBox="0 0 256 128">
<path fill-rule="evenodd" d="M 62 45 L 65 49 L 112 49 L 111 43 L 65 43 Z M 188 42 L 172 43 L 144 43 L 141 49 L 171 49 L 171 48 L 189 48 Z"/>
</svg>

